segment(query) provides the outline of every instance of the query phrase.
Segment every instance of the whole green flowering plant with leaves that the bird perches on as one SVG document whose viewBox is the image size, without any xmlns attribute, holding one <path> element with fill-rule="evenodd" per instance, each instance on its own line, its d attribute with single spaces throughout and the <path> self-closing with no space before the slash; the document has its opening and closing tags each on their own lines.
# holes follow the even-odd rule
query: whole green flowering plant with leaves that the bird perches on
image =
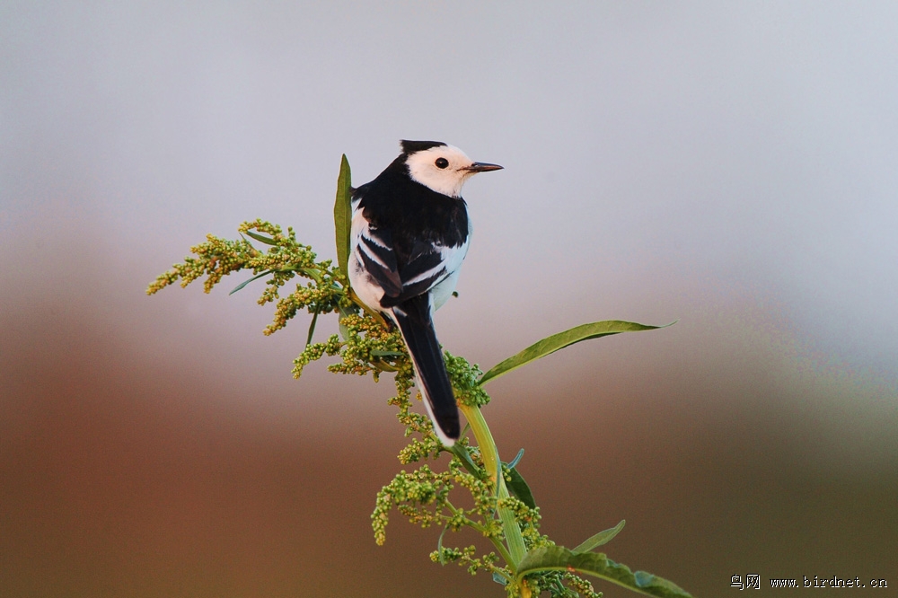
<svg viewBox="0 0 898 598">
<path fill-rule="evenodd" d="M 346 169 L 344 177 L 343 168 Z M 233 272 L 246 270 L 252 277 L 233 289 L 239 291 L 253 280 L 265 277 L 260 305 L 276 303 L 274 321 L 264 330 L 272 334 L 286 326 L 301 311 L 312 314 L 308 340 L 294 360 L 293 374 L 303 374 L 304 367 L 324 356 L 337 357 L 328 365 L 335 374 L 372 374 L 377 382 L 383 372 L 395 374 L 396 394 L 387 402 L 398 409 L 397 418 L 409 444 L 399 454 L 402 465 L 422 463 L 417 470 L 401 470 L 392 481 L 377 493 L 371 515 L 374 541 L 386 541 L 386 526 L 395 508 L 410 523 L 421 527 L 442 527 L 436 550 L 430 553 L 434 562 L 455 562 L 467 567 L 471 575 L 485 571 L 505 586 L 510 598 L 530 598 L 549 592 L 553 598 L 598 598 L 593 586 L 577 573 L 603 577 L 644 594 L 662 598 L 691 598 L 671 582 L 645 572 L 635 574 L 627 567 L 613 563 L 594 548 L 612 539 L 623 526 L 596 534 L 575 550 L 557 547 L 539 532 L 541 514 L 521 473 L 516 470 L 523 450 L 509 463 L 499 461 L 496 444 L 480 409 L 489 403 L 483 383 L 505 374 L 533 359 L 566 347 L 579 340 L 599 338 L 623 331 L 650 330 L 641 324 L 622 321 L 603 321 L 584 325 L 543 339 L 524 349 L 483 374 L 477 365 L 459 356 L 445 353 L 446 371 L 453 385 L 468 426 L 452 448 L 439 442 L 433 426 L 422 413 L 412 409 L 411 389 L 414 371 L 401 334 L 379 314 L 368 311 L 357 301 L 348 286 L 348 163 L 341 167 L 337 222 L 340 266 L 332 266 L 330 259 L 319 261 L 312 248 L 296 242 L 292 228 L 284 234 L 276 224 L 262 220 L 240 225 L 240 240 L 229 241 L 207 235 L 205 242 L 191 247 L 193 257 L 157 277 L 147 288 L 153 295 L 165 286 L 180 281 L 188 286 L 206 277 L 203 284 L 208 293 L 222 279 Z M 259 249 L 258 242 L 265 246 Z M 286 284 L 294 277 L 304 280 L 284 295 Z M 315 324 L 321 314 L 339 314 L 339 334 L 324 342 L 313 342 Z M 416 397 L 420 400 L 420 395 Z M 477 443 L 471 444 L 469 435 Z M 445 470 L 434 464 L 443 453 L 449 453 Z M 470 498 L 456 497 L 464 490 Z M 471 504 L 470 508 L 461 505 Z M 494 550 L 479 551 L 476 546 L 453 548 L 443 545 L 446 532 L 458 532 L 469 527 L 492 544 Z"/>
</svg>

